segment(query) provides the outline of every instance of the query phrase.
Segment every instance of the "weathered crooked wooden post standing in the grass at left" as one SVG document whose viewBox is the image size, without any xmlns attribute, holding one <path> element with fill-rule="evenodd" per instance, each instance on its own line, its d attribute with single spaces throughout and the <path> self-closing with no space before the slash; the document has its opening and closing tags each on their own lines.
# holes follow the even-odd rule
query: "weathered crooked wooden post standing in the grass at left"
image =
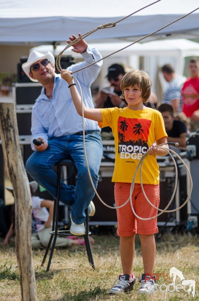
<svg viewBox="0 0 199 301">
<path fill-rule="evenodd" d="M 16 252 L 22 301 L 36 301 L 31 246 L 32 200 L 19 145 L 15 103 L 0 103 L 0 135 L 14 193 Z"/>
</svg>

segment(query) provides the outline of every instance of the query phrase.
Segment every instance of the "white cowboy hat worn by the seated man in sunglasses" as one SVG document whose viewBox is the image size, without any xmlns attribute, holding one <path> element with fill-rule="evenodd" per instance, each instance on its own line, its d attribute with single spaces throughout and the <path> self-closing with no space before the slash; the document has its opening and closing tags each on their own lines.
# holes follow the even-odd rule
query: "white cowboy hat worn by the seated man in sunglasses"
<svg viewBox="0 0 199 301">
<path fill-rule="evenodd" d="M 48 51 L 46 54 L 43 54 L 43 53 L 35 51 L 35 50 L 33 50 L 30 53 L 30 55 L 28 56 L 27 62 L 22 64 L 23 71 L 25 72 L 25 74 L 29 77 L 29 79 L 32 82 L 38 82 L 38 80 L 33 79 L 32 77 L 29 76 L 30 67 L 37 61 L 40 61 L 43 59 L 47 59 L 50 63 L 53 63 L 53 65 L 55 65 L 54 55 L 50 51 Z"/>
</svg>

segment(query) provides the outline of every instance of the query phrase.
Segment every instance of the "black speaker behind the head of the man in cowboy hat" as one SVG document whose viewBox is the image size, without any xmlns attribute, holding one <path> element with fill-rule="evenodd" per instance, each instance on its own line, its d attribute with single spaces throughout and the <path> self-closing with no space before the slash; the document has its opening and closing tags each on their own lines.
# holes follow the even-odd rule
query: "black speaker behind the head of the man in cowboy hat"
<svg viewBox="0 0 199 301">
<path fill-rule="evenodd" d="M 55 61 L 56 61 L 56 59 L 57 59 L 57 56 L 55 56 Z M 28 57 L 21 58 L 20 63 L 17 64 L 17 81 L 18 82 L 32 82 L 22 69 L 22 64 L 27 62 L 27 60 L 28 60 Z M 62 69 L 66 69 L 70 65 L 74 64 L 74 61 L 75 61 L 75 59 L 71 55 L 62 56 L 60 59 L 60 65 L 61 65 Z M 55 72 L 59 73 L 56 66 L 55 66 Z"/>
</svg>

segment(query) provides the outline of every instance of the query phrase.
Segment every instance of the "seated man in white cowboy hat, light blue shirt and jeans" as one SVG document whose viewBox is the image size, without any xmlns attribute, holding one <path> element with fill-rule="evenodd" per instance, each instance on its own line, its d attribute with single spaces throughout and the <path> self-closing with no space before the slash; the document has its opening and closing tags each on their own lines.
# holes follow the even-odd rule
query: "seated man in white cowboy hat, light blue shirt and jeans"
<svg viewBox="0 0 199 301">
<path fill-rule="evenodd" d="M 76 38 L 75 35 L 70 36 L 67 43 Z M 84 40 L 73 47 L 72 51 L 81 53 L 84 61 L 69 66 L 67 69 L 72 72 L 101 58 L 98 50 L 91 48 Z M 73 160 L 78 171 L 76 186 L 61 182 L 60 200 L 71 206 L 70 232 L 83 235 L 85 209 L 88 207 L 89 215 L 92 216 L 95 208 L 92 202 L 94 190 L 84 158 L 82 118 L 74 107 L 68 85 L 55 73 L 54 64 L 52 53 L 33 51 L 28 61 L 22 65 L 23 71 L 33 82 L 43 85 L 32 110 L 31 146 L 36 151 L 28 158 L 26 170 L 35 181 L 56 197 L 57 175 L 52 167 L 61 159 Z M 82 89 L 84 103 L 90 108 L 94 107 L 90 85 L 98 76 L 101 66 L 102 61 L 75 74 Z M 34 145 L 34 139 L 41 140 L 42 144 Z M 97 122 L 89 119 L 85 120 L 85 144 L 89 169 L 96 187 L 103 146 Z"/>
</svg>

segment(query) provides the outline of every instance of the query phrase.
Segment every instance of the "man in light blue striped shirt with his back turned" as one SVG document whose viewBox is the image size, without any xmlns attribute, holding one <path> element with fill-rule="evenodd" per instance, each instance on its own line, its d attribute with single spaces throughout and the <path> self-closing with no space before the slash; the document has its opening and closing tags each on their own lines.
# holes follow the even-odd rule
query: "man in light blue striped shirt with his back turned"
<svg viewBox="0 0 199 301">
<path fill-rule="evenodd" d="M 170 64 L 166 64 L 162 67 L 162 74 L 169 85 L 163 93 L 162 102 L 171 104 L 174 113 L 181 112 L 182 110 L 182 96 L 181 88 L 186 81 L 186 77 L 177 76 L 173 67 Z"/>
</svg>

